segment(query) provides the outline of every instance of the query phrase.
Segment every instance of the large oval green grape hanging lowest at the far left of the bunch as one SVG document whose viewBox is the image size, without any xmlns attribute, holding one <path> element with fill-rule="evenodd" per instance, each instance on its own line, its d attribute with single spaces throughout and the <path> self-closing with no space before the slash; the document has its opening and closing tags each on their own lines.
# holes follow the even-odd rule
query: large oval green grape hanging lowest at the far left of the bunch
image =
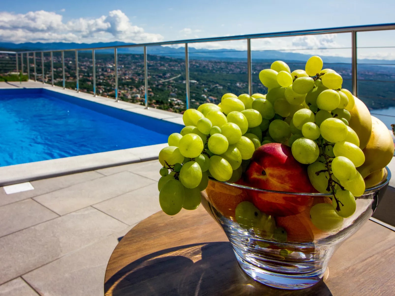
<svg viewBox="0 0 395 296">
<path fill-rule="evenodd" d="M 167 215 L 175 215 L 184 204 L 185 191 L 179 180 L 169 180 L 160 189 L 159 204 Z"/>
</svg>

